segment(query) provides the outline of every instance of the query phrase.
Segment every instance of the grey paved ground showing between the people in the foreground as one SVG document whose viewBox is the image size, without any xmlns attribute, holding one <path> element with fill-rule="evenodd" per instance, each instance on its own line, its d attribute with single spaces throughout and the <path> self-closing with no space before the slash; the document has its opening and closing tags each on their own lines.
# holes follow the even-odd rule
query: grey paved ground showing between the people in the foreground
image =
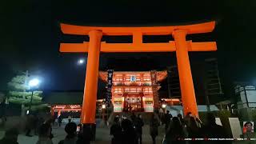
<svg viewBox="0 0 256 144">
<path fill-rule="evenodd" d="M 162 138 L 163 138 L 163 127 L 159 127 L 159 136 L 157 137 L 157 143 L 160 144 L 162 143 Z M 109 128 L 97 128 L 96 130 L 96 141 L 92 142 L 93 144 L 107 144 L 110 143 L 110 131 Z M 144 141 L 143 143 L 152 143 L 150 134 L 149 134 L 149 126 L 144 126 L 143 127 L 143 135 L 142 135 L 142 140 Z M 54 144 L 58 144 L 60 140 L 65 138 L 65 131 L 64 131 L 64 126 L 62 127 L 55 127 L 53 128 L 53 142 Z M 4 131 L 0 131 L 0 138 L 2 138 L 4 135 Z M 19 144 L 35 144 L 38 140 L 38 136 L 33 136 L 33 137 L 26 137 L 24 134 L 19 134 L 18 136 L 18 143 Z"/>
</svg>

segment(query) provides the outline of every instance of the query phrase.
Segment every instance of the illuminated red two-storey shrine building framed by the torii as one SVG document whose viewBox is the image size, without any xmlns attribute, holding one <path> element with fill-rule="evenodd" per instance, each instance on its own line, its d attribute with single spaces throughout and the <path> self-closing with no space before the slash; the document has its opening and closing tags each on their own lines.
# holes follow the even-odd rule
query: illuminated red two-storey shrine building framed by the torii
<svg viewBox="0 0 256 144">
<path fill-rule="evenodd" d="M 99 78 L 107 82 L 108 73 L 99 72 Z M 167 71 L 114 71 L 111 102 L 114 112 L 153 112 L 159 108 L 159 82 L 167 77 Z"/>
</svg>

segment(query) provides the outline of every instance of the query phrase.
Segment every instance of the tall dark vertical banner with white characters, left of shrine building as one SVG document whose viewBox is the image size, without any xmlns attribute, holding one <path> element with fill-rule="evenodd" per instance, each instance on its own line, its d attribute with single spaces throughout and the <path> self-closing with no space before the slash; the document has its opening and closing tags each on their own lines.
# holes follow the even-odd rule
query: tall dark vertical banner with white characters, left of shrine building
<svg viewBox="0 0 256 144">
<path fill-rule="evenodd" d="M 113 72 L 114 70 L 107 70 L 107 85 L 106 85 L 106 105 L 110 106 L 112 94 L 112 83 L 113 83 Z"/>
</svg>

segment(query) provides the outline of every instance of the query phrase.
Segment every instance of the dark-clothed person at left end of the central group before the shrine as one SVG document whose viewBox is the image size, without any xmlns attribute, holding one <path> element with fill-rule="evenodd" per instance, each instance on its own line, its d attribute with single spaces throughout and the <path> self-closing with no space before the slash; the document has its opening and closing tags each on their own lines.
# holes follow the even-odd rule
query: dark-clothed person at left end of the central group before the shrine
<svg viewBox="0 0 256 144">
<path fill-rule="evenodd" d="M 122 127 L 119 123 L 119 117 L 114 118 L 113 125 L 110 127 L 110 135 L 113 135 L 113 138 L 111 139 L 112 144 L 122 142 Z"/>
</svg>

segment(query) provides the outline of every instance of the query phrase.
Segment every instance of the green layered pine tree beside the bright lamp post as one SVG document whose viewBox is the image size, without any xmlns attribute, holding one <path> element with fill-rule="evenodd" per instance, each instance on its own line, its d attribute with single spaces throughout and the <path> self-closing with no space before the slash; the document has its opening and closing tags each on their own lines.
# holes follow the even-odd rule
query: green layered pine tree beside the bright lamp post
<svg viewBox="0 0 256 144">
<path fill-rule="evenodd" d="M 32 92 L 30 87 L 26 84 L 28 83 L 28 78 L 25 74 L 17 75 L 8 82 L 9 92 L 8 99 L 11 103 L 16 104 L 30 104 L 30 98 Z M 38 105 L 42 103 L 42 91 L 34 91 L 32 104 Z"/>
</svg>

